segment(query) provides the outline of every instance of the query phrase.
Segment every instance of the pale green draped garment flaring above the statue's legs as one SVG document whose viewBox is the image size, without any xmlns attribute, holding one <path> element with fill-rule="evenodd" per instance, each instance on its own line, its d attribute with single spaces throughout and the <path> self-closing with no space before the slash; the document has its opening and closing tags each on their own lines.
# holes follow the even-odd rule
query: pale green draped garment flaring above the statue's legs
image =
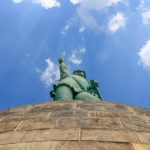
<svg viewBox="0 0 150 150">
<path fill-rule="evenodd" d="M 66 78 L 56 81 L 54 84 L 54 91 L 59 85 L 69 86 L 77 93 L 87 91 L 89 89 L 88 80 L 78 75 L 68 75 Z"/>
</svg>

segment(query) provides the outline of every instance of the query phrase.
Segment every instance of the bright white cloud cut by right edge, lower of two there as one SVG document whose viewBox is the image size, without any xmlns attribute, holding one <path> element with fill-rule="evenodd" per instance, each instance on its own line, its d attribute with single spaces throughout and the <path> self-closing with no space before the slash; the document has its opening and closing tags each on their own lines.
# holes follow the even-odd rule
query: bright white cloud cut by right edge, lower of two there
<svg viewBox="0 0 150 150">
<path fill-rule="evenodd" d="M 150 40 L 145 43 L 138 55 L 140 57 L 140 64 L 150 69 Z"/>
</svg>

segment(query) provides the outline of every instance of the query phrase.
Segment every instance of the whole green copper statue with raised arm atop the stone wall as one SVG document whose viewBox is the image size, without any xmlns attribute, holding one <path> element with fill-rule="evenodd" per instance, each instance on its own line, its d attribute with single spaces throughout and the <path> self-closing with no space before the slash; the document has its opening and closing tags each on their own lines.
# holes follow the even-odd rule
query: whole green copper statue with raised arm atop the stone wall
<svg viewBox="0 0 150 150">
<path fill-rule="evenodd" d="M 59 59 L 60 79 L 53 85 L 51 97 L 55 101 L 62 100 L 102 100 L 98 91 L 98 82 L 87 80 L 82 70 L 69 74 L 63 57 Z"/>
</svg>

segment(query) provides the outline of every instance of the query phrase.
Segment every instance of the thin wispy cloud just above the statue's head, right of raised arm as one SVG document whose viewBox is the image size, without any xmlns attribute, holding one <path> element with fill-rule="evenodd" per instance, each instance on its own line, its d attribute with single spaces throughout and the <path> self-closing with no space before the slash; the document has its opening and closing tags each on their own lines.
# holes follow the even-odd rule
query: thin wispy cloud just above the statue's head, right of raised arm
<svg viewBox="0 0 150 150">
<path fill-rule="evenodd" d="M 69 61 L 73 64 L 80 65 L 82 63 L 81 55 L 86 52 L 85 48 L 77 49 L 72 51 Z"/>
</svg>

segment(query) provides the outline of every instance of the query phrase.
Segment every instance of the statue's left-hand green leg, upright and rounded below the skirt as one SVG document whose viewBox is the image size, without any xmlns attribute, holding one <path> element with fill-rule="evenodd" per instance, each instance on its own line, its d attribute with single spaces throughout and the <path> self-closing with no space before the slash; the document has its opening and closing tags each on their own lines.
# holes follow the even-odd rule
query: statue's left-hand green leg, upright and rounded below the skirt
<svg viewBox="0 0 150 150">
<path fill-rule="evenodd" d="M 56 88 L 56 96 L 55 96 L 56 101 L 61 101 L 61 100 L 73 100 L 73 91 L 70 87 L 66 85 L 59 85 Z"/>
</svg>

